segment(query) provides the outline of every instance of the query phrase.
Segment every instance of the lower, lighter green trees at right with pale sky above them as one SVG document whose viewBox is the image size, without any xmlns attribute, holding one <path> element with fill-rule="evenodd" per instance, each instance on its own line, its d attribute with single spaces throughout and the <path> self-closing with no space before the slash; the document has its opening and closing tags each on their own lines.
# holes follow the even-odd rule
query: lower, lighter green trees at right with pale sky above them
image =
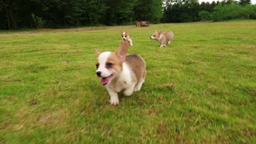
<svg viewBox="0 0 256 144">
<path fill-rule="evenodd" d="M 251 0 L 202 2 L 167 0 L 161 22 L 223 21 L 237 18 L 256 19 L 256 5 Z"/>
</svg>

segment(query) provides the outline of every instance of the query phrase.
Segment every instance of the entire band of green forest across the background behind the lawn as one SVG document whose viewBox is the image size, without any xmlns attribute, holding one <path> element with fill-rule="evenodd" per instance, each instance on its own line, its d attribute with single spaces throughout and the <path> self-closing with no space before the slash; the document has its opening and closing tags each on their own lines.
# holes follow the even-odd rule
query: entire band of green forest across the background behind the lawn
<svg viewBox="0 0 256 144">
<path fill-rule="evenodd" d="M 0 0 L 0 29 L 256 19 L 251 0 Z"/>
</svg>

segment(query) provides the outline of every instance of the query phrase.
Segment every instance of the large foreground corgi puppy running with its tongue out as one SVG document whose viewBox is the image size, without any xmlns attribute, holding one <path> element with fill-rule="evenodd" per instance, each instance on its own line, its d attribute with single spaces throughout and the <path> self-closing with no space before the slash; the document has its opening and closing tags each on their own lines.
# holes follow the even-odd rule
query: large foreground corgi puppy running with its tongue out
<svg viewBox="0 0 256 144">
<path fill-rule="evenodd" d="M 118 105 L 118 93 L 129 96 L 141 89 L 146 76 L 146 62 L 137 53 L 127 55 L 127 42 L 121 43 L 115 52 L 97 53 L 96 75 L 101 77 L 101 85 L 106 86 L 110 104 Z"/>
</svg>

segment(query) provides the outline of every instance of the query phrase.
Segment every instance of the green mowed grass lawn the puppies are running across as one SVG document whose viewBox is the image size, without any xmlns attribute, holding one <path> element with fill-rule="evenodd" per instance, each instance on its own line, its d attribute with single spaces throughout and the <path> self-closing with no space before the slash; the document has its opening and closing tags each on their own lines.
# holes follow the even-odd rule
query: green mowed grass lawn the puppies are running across
<svg viewBox="0 0 256 144">
<path fill-rule="evenodd" d="M 147 75 L 113 106 L 94 48 L 117 50 L 121 29 Z M 2 31 L 0 143 L 255 143 L 255 72 L 255 20 Z"/>
</svg>

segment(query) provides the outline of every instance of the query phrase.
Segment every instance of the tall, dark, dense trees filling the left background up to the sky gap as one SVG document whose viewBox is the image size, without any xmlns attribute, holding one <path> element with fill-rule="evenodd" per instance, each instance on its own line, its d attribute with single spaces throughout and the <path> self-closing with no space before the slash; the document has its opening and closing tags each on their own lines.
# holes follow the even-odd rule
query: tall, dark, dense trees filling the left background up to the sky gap
<svg viewBox="0 0 256 144">
<path fill-rule="evenodd" d="M 157 23 L 161 0 L 0 0 L 0 29 Z"/>
</svg>

